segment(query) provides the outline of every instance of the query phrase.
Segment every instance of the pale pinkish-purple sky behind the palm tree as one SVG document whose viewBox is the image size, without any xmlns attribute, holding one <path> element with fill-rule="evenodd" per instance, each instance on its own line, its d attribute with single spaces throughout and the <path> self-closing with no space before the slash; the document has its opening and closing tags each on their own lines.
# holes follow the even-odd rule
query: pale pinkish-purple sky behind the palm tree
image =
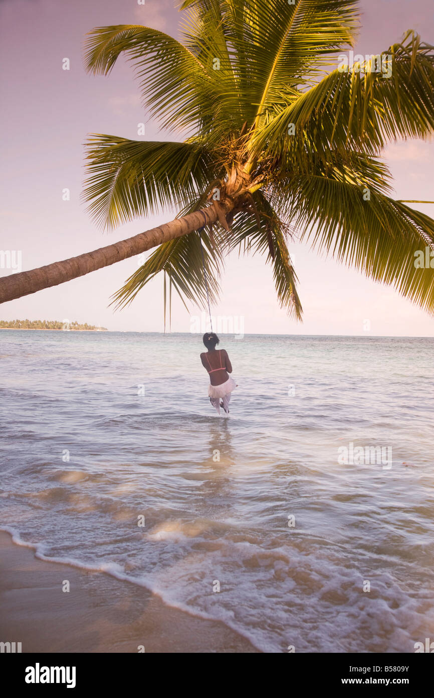
<svg viewBox="0 0 434 698">
<path fill-rule="evenodd" d="M 143 140 L 183 140 L 183 134 L 161 131 L 144 112 L 132 67 L 123 58 L 108 77 L 88 75 L 83 44 L 93 27 L 111 24 L 145 24 L 179 37 L 176 6 L 173 0 L 0 0 L 0 250 L 21 251 L 23 271 L 117 242 L 174 217 L 176 211 L 162 211 L 104 232 L 86 211 L 82 187 L 88 134 Z M 378 54 L 407 29 L 434 44 L 432 0 L 362 0 L 360 7 L 362 29 L 355 52 Z M 65 58 L 69 70 L 62 68 Z M 137 135 L 141 123 L 144 136 Z M 385 158 L 396 198 L 434 200 L 434 142 L 392 144 Z M 70 200 L 63 200 L 65 189 Z M 414 208 L 434 216 L 434 205 Z M 290 242 L 289 248 L 303 322 L 280 309 L 265 257 L 238 258 L 234 253 L 226 260 L 221 300 L 212 309 L 217 327 L 230 330 L 233 322 L 235 331 L 242 327 L 245 334 L 434 336 L 434 318 L 393 288 L 319 257 L 305 244 Z M 109 307 L 111 295 L 135 269 L 137 258 L 131 258 L 5 303 L 0 320 L 77 320 L 110 330 L 162 332 L 161 275 L 127 309 Z M 0 276 L 12 271 L 0 269 Z M 197 329 L 196 318 L 201 318 L 201 309 L 189 306 L 187 311 L 174 295 L 172 332 Z M 203 326 L 202 318 L 199 324 Z"/>
</svg>

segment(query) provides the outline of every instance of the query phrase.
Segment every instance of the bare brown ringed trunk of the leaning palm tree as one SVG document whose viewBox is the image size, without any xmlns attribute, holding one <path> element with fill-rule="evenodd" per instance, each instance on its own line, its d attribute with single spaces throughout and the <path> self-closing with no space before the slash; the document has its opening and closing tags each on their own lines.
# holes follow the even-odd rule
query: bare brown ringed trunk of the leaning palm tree
<svg viewBox="0 0 434 698">
<path fill-rule="evenodd" d="M 234 202 L 231 199 L 219 202 L 228 214 L 233 209 Z M 205 218 L 204 218 L 205 216 Z M 218 219 L 217 207 L 210 206 L 194 213 L 187 214 L 183 218 L 175 218 L 170 223 L 159 225 L 158 228 L 151 228 L 139 235 L 129 237 L 121 242 L 116 242 L 107 247 L 100 247 L 93 252 L 86 252 L 78 257 L 71 257 L 63 262 L 54 262 L 46 267 L 31 269 L 30 272 L 19 272 L 0 278 L 0 303 L 12 301 L 15 298 L 36 293 L 42 288 L 65 283 L 78 276 L 84 276 L 96 269 L 108 267 L 115 262 L 121 262 L 128 257 L 134 257 L 142 252 L 146 252 L 151 247 L 161 245 L 163 242 L 188 235 L 189 232 L 199 230 L 203 225 L 215 223 Z"/>
</svg>

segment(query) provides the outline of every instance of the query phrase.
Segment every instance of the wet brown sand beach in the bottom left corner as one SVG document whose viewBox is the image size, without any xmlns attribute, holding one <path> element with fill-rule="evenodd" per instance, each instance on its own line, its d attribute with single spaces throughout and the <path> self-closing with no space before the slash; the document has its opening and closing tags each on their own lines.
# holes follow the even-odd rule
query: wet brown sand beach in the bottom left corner
<svg viewBox="0 0 434 698">
<path fill-rule="evenodd" d="M 70 592 L 62 591 L 63 581 Z M 167 607 L 145 588 L 103 572 L 38 560 L 0 531 L 0 640 L 22 652 L 247 653 L 223 623 Z"/>
</svg>

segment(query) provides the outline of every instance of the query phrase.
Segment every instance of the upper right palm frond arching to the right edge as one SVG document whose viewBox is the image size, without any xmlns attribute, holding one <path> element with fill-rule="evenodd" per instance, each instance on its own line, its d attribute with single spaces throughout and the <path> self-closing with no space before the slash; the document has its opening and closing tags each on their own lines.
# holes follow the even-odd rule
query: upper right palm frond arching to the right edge
<svg viewBox="0 0 434 698">
<path fill-rule="evenodd" d="M 252 135 L 251 150 L 284 163 L 285 156 L 293 157 L 306 141 L 325 156 L 348 148 L 362 148 L 373 155 L 391 140 L 432 135 L 433 47 L 420 43 L 411 32 L 403 43 L 380 54 L 380 59 L 389 61 L 389 55 L 389 78 L 375 73 L 371 61 L 363 64 L 363 76 L 356 66 L 333 70 L 258 129 Z M 291 124 L 294 135 L 288 134 Z"/>
</svg>

